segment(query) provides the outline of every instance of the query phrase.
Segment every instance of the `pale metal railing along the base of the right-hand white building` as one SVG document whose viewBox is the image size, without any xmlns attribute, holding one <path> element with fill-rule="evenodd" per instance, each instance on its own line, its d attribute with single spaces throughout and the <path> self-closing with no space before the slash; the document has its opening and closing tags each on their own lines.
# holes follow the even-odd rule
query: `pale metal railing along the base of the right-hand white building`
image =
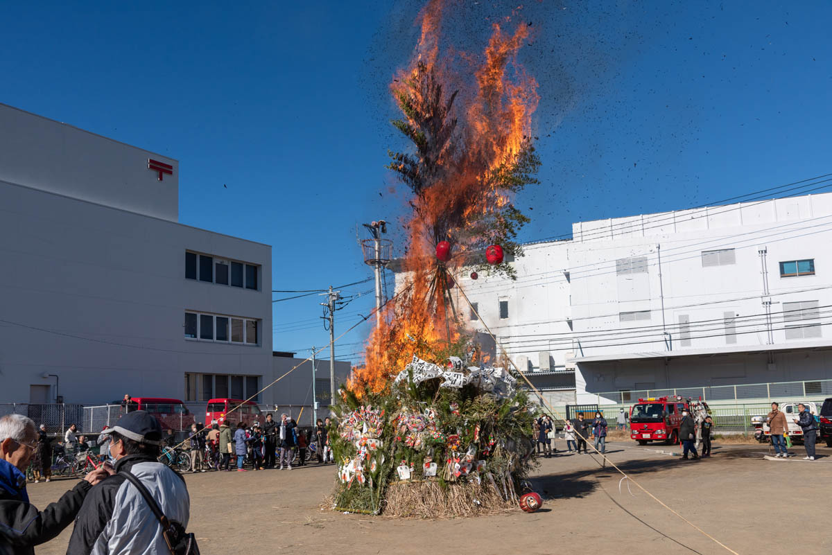
<svg viewBox="0 0 832 555">
<path fill-rule="evenodd" d="M 736 386 L 678 387 L 655 390 L 621 390 L 592 393 L 599 405 L 635 403 L 639 398 L 681 395 L 713 403 L 737 400 L 800 400 L 832 396 L 832 380 L 779 381 Z"/>
</svg>

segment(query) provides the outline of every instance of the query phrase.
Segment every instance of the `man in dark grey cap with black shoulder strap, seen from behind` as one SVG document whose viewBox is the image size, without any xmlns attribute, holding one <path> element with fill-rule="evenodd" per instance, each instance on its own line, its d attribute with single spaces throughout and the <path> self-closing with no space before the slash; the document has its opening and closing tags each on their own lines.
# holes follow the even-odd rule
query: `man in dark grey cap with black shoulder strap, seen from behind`
<svg viewBox="0 0 832 555">
<path fill-rule="evenodd" d="M 121 418 L 109 434 L 115 474 L 87 495 L 72 530 L 67 555 L 171 553 L 153 508 L 129 479 L 139 480 L 171 523 L 188 525 L 191 498 L 185 480 L 158 462 L 161 426 L 145 410 Z"/>
</svg>

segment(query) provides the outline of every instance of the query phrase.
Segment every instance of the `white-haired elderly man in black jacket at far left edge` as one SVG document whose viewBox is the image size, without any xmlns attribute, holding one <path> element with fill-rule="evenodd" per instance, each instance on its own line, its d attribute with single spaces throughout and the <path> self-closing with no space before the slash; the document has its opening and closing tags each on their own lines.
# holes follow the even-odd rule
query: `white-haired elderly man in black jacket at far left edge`
<svg viewBox="0 0 832 555">
<path fill-rule="evenodd" d="M 105 469 L 93 470 L 57 503 L 38 511 L 29 503 L 26 469 L 37 441 L 35 423 L 23 415 L 0 418 L 0 545 L 12 553 L 35 553 L 34 546 L 55 538 L 72 523 L 87 492 L 105 479 Z"/>
</svg>

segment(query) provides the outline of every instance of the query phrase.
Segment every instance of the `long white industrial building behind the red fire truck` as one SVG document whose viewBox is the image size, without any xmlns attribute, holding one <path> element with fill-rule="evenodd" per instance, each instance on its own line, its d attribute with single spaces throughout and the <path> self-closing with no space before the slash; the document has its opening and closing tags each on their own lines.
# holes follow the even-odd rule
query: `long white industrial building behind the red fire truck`
<svg viewBox="0 0 832 555">
<path fill-rule="evenodd" d="M 572 230 L 572 240 L 524 246 L 514 282 L 462 282 L 552 400 L 832 395 L 832 194 Z M 770 382 L 798 383 L 752 386 Z"/>
</svg>

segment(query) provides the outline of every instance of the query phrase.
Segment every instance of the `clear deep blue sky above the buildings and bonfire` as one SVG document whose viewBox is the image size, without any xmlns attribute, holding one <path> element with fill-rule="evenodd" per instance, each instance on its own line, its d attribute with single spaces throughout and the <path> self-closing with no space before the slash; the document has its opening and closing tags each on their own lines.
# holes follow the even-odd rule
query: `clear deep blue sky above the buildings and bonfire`
<svg viewBox="0 0 832 555">
<path fill-rule="evenodd" d="M 517 4 L 458 2 L 472 51 L 501 3 Z M 402 145 L 385 86 L 409 58 L 418 2 L 230 6 L 3 2 L 0 101 L 180 160 L 180 221 L 271 244 L 274 289 L 369 278 L 356 224 L 405 212 L 384 169 Z M 832 171 L 832 4 L 611 6 L 544 0 L 522 15 L 542 96 L 542 183 L 517 199 L 532 217 L 522 239 Z M 276 350 L 328 341 L 319 301 L 275 303 Z M 373 304 L 355 298 L 336 331 Z"/>
</svg>

